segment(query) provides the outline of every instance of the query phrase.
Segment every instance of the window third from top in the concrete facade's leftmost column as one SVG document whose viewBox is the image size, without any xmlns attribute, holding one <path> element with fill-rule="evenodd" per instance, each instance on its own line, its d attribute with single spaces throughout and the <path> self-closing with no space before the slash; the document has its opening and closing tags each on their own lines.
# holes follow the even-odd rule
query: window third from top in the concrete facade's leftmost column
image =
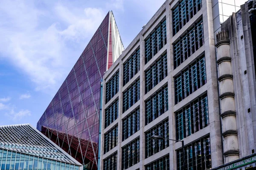
<svg viewBox="0 0 256 170">
<path fill-rule="evenodd" d="M 107 133 L 104 134 L 104 154 L 116 147 L 117 145 L 118 127 L 115 125 Z"/>
</svg>

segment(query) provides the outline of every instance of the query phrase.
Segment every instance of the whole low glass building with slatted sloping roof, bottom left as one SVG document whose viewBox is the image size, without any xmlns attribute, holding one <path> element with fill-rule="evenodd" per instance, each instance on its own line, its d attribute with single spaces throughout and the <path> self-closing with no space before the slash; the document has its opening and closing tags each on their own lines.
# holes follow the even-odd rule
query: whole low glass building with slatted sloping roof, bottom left
<svg viewBox="0 0 256 170">
<path fill-rule="evenodd" d="M 82 164 L 29 124 L 0 126 L 0 170 L 82 169 Z"/>
</svg>

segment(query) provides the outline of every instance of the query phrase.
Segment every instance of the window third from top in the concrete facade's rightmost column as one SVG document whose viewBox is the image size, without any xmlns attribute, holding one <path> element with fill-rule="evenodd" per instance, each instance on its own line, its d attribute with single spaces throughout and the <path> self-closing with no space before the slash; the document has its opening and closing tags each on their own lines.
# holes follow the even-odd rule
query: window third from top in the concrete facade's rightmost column
<svg viewBox="0 0 256 170">
<path fill-rule="evenodd" d="M 175 77 L 175 104 L 206 84 L 205 57 L 202 56 Z"/>
</svg>

